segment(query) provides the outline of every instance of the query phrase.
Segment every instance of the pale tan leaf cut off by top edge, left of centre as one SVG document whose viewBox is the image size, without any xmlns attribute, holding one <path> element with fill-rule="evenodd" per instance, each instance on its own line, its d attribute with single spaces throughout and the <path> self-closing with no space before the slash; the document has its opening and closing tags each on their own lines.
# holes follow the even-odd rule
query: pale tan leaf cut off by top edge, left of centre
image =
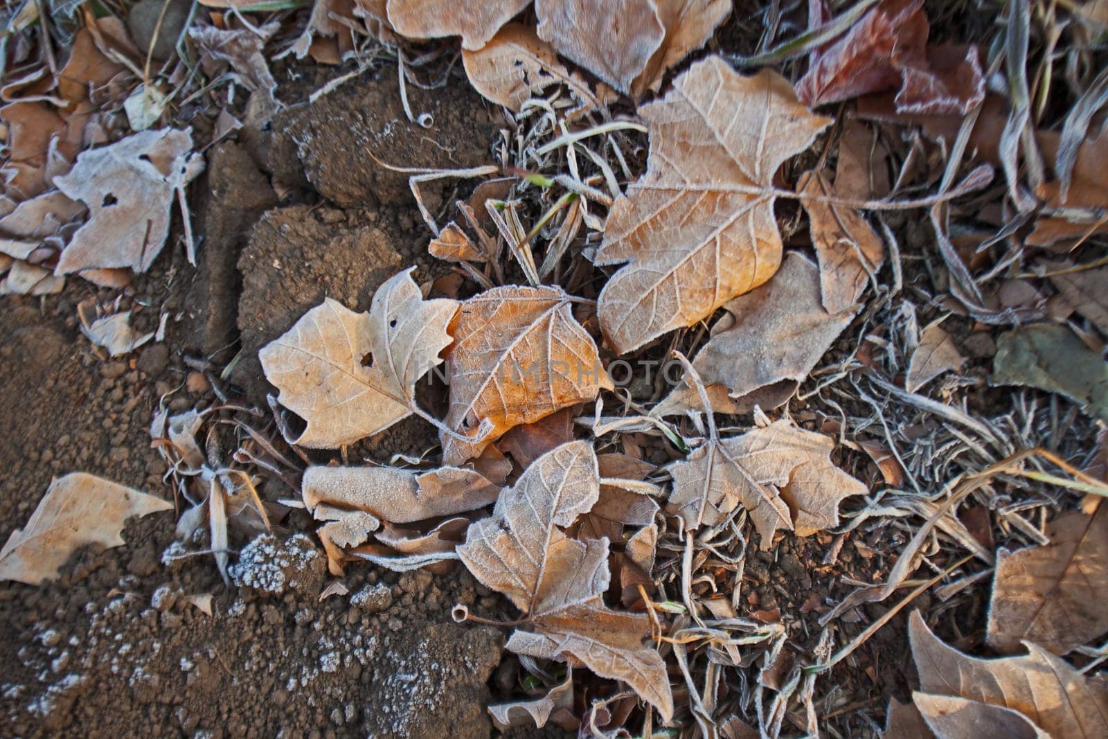
<svg viewBox="0 0 1108 739">
<path fill-rule="evenodd" d="M 483 0 L 458 3 L 450 0 L 389 0 L 389 22 L 409 39 L 462 37 L 462 48 L 483 47 L 531 0 Z"/>
</svg>

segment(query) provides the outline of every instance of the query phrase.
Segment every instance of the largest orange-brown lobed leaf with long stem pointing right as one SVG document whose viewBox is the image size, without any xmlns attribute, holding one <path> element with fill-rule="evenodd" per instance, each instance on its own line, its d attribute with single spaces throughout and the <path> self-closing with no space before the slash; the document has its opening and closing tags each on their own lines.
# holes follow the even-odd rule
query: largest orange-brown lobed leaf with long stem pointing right
<svg viewBox="0 0 1108 739">
<path fill-rule="evenodd" d="M 639 114 L 650 130 L 647 173 L 613 204 L 596 254 L 598 265 L 629 261 L 597 307 L 617 353 L 696 324 L 777 271 L 773 176 L 830 123 L 780 74 L 742 76 L 718 57 Z"/>
</svg>

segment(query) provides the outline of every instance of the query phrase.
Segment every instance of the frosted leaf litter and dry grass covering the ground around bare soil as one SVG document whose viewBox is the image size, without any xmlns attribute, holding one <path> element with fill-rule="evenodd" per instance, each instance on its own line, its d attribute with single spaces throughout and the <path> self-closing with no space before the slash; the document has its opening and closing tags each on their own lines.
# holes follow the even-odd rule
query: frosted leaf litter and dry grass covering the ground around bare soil
<svg viewBox="0 0 1108 739">
<path fill-rule="evenodd" d="M 1105 715 L 1099 678 L 1054 655 L 1091 674 L 1108 629 L 1079 595 L 1102 585 L 1105 519 L 1089 500 L 1084 512 L 1073 510 L 1075 493 L 1106 487 L 1074 465 L 1081 453 L 1074 434 L 1057 448 L 1063 430 L 1091 428 L 1078 409 L 1105 418 L 1096 276 L 1108 204 L 1089 168 L 1104 138 L 1089 123 L 1095 113 L 1075 109 L 1063 125 L 1047 104 L 1065 85 L 1095 110 L 1095 81 L 1081 66 L 1063 78 L 1047 61 L 1028 62 L 1013 45 L 1012 23 L 999 60 L 985 44 L 931 43 L 929 35 L 948 38 L 946 29 L 930 28 L 922 3 L 896 0 L 835 17 L 819 2 L 807 18 L 767 11 L 763 58 L 777 71 L 747 75 L 732 66 L 742 70 L 742 58 L 714 53 L 731 10 L 718 0 L 540 0 L 533 9 L 320 0 L 291 47 L 288 18 L 263 16 L 255 25 L 243 13 L 263 11 L 248 6 L 189 28 L 203 70 L 218 74 L 225 68 L 215 62 L 229 63 L 229 80 L 270 99 L 275 45 L 322 63 L 355 60 L 359 69 L 335 84 L 377 64 L 373 54 L 391 54 L 406 106 L 404 84 L 423 86 L 447 48 L 408 39 L 460 35 L 462 68 L 506 109 L 506 129 L 497 165 L 481 170 L 499 170 L 495 194 L 459 202 L 461 217 L 441 232 L 420 201 L 434 233 L 429 253 L 456 265 L 450 299 L 429 297 L 441 295 L 443 280 L 421 287 L 408 270 L 378 290 L 368 314 L 330 298 L 308 311 L 261 351 L 279 392 L 273 438 L 233 406 L 160 411 L 152 438 L 174 494 L 188 502 L 181 525 L 211 530 L 225 578 L 232 534 L 266 531 L 289 506 L 317 522 L 336 576 L 357 561 L 449 572 L 460 560 L 522 612 L 507 622 L 516 628 L 509 649 L 529 674 L 530 698 L 490 707 L 502 727 L 553 721 L 604 736 L 635 731 L 625 727 L 640 720 L 649 736 L 660 718 L 667 731 L 772 737 L 789 727 L 814 733 L 824 719 L 875 727 L 872 700 L 850 704 L 817 676 L 849 663 L 876 682 L 866 642 L 929 592 L 931 623 L 947 633 L 954 620 L 954 633 L 968 626 L 961 646 L 985 639 L 1004 654 L 1029 654 L 967 657 L 913 615 L 920 689 L 899 692 L 911 704 L 889 705 L 886 736 L 967 736 L 982 722 L 1020 736 L 1095 733 Z M 1057 12 L 1076 13 L 1086 29 L 1094 21 L 1079 10 Z M 1044 18 L 1032 22 L 1034 43 L 1046 29 L 1049 44 L 1064 39 L 1080 54 L 1097 53 L 1083 45 L 1087 33 L 1056 31 L 1054 16 Z M 131 136 L 113 132 L 88 148 L 78 131 L 89 121 L 33 97 L 53 90 L 33 86 L 33 74 L 20 83 L 33 100 L 4 109 L 16 195 L 6 195 L 0 216 L 0 291 L 61 290 L 61 275 L 71 273 L 113 283 L 104 268 L 145 271 L 167 242 L 174 199 L 193 256 L 185 187 L 201 158 L 191 132 L 153 129 L 165 111 L 173 117 L 151 96 L 168 89 L 168 68 L 150 86 L 148 70 L 138 74 L 137 55 L 113 33 L 92 23 L 76 38 L 81 54 L 96 60 L 96 84 L 130 69 L 134 81 L 119 102 L 130 105 Z M 787 41 L 790 33 L 799 40 Z M 709 41 L 712 52 L 696 53 Z M 690 53 L 696 60 L 681 64 Z M 1010 99 L 1009 125 L 1025 113 L 1030 121 L 1005 134 L 1003 154 L 991 153 L 973 125 L 992 125 L 996 109 L 985 97 L 986 59 L 1007 73 L 1009 89 L 1001 91 L 997 75 L 988 94 Z M 1022 78 L 1040 63 L 1038 86 L 1027 84 Z M 95 85 L 72 61 L 65 70 L 58 93 L 94 115 Z M 851 101 L 874 93 L 888 95 L 893 114 L 862 124 Z M 1020 94 L 1034 95 L 1034 107 Z M 134 101 L 144 103 L 141 115 Z M 823 109 L 834 119 L 809 110 L 843 101 L 844 109 Z M 965 115 L 961 137 L 948 135 L 941 148 L 925 141 L 951 122 L 956 131 Z M 913 122 L 924 137 L 904 133 Z M 1008 187 L 981 191 L 981 178 L 953 187 L 975 155 L 1004 165 Z M 413 192 L 419 197 L 414 183 Z M 1030 194 L 1043 205 L 1034 215 Z M 921 244 L 911 228 L 922 227 L 904 227 L 902 213 L 922 206 L 933 208 L 934 252 L 930 232 Z M 1068 261 L 1040 258 L 1037 247 L 1059 244 L 1054 258 L 1068 249 Z M 994 296 L 998 283 L 1009 287 Z M 1014 317 L 1030 314 L 1010 310 L 1013 285 L 1034 292 L 1056 324 L 1039 312 L 1019 325 L 1026 319 Z M 931 321 L 922 331 L 917 312 Z M 148 339 L 131 331 L 129 317 L 86 309 L 82 329 L 122 355 Z M 624 358 L 684 361 L 680 351 L 694 361 L 676 382 L 633 372 L 635 384 L 625 387 L 609 371 Z M 1012 398 L 997 414 L 992 400 L 974 397 L 986 390 L 989 359 L 987 382 Z M 445 406 L 417 392 L 442 362 Z M 1044 403 L 1034 389 L 1077 404 Z M 217 391 L 225 393 L 219 383 Z M 412 414 L 438 431 L 440 466 L 425 454 L 404 456 L 407 466 L 398 458 L 389 466 L 349 463 L 348 448 L 377 443 Z M 220 424 L 235 430 L 233 456 L 222 453 Z M 309 458 L 300 447 L 338 451 Z M 265 480 L 297 500 L 281 499 L 286 506 L 259 494 Z M 758 582 L 749 573 L 760 554 L 787 557 L 796 546 L 815 547 L 823 564 L 809 555 L 789 583 L 841 567 L 844 551 L 874 561 L 865 579 L 843 578 L 833 596 L 804 594 L 800 613 L 819 614 L 822 627 L 804 638 L 797 627 L 814 620 L 776 607 L 766 588 L 745 587 Z M 958 550 L 968 554 L 958 560 Z M 955 604 L 979 598 L 991 575 L 986 632 L 981 619 L 954 614 Z M 859 589 L 844 598 L 848 586 Z M 878 618 L 855 608 L 909 586 Z M 327 593 L 343 589 L 335 581 Z M 208 613 L 211 595 L 195 605 Z M 488 620 L 464 608 L 456 615 Z M 1028 709 L 1044 696 L 1070 712 Z"/>
</svg>

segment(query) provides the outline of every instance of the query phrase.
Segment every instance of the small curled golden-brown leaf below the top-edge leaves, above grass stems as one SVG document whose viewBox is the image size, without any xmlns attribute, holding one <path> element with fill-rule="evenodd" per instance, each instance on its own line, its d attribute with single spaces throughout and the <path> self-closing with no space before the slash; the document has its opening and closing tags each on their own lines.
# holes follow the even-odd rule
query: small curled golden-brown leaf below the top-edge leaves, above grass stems
<svg viewBox="0 0 1108 739">
<path fill-rule="evenodd" d="M 588 83 L 558 62 L 530 25 L 509 23 L 481 49 L 463 49 L 462 63 L 478 92 L 511 111 L 555 84 L 564 84 L 582 107 L 601 106 Z"/>
</svg>

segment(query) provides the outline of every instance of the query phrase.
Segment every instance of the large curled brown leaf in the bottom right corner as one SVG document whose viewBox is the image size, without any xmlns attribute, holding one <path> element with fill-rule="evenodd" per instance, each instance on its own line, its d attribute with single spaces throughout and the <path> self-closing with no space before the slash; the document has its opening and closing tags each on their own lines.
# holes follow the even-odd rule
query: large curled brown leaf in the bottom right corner
<svg viewBox="0 0 1108 739">
<path fill-rule="evenodd" d="M 1009 708 L 1053 737 L 1108 736 L 1108 692 L 1035 644 L 1026 643 L 1029 654 L 1022 657 L 968 657 L 932 634 L 917 610 L 912 612 L 909 620 L 909 637 L 920 673 L 916 706 L 940 737 L 978 736 L 966 730 L 975 726 L 968 719 L 985 714 L 971 710 L 961 701 L 944 705 L 925 699 L 921 705 L 920 694 Z M 936 710 L 929 715 L 932 708 Z M 933 720 L 948 719 L 952 712 L 962 711 L 966 711 L 965 723 L 956 722 L 960 719 L 952 719 L 954 723 Z M 991 716 L 993 720 L 1001 718 L 998 712 Z M 1015 722 L 1006 719 L 1004 726 Z M 998 736 L 1008 735 L 1002 731 Z"/>
</svg>

